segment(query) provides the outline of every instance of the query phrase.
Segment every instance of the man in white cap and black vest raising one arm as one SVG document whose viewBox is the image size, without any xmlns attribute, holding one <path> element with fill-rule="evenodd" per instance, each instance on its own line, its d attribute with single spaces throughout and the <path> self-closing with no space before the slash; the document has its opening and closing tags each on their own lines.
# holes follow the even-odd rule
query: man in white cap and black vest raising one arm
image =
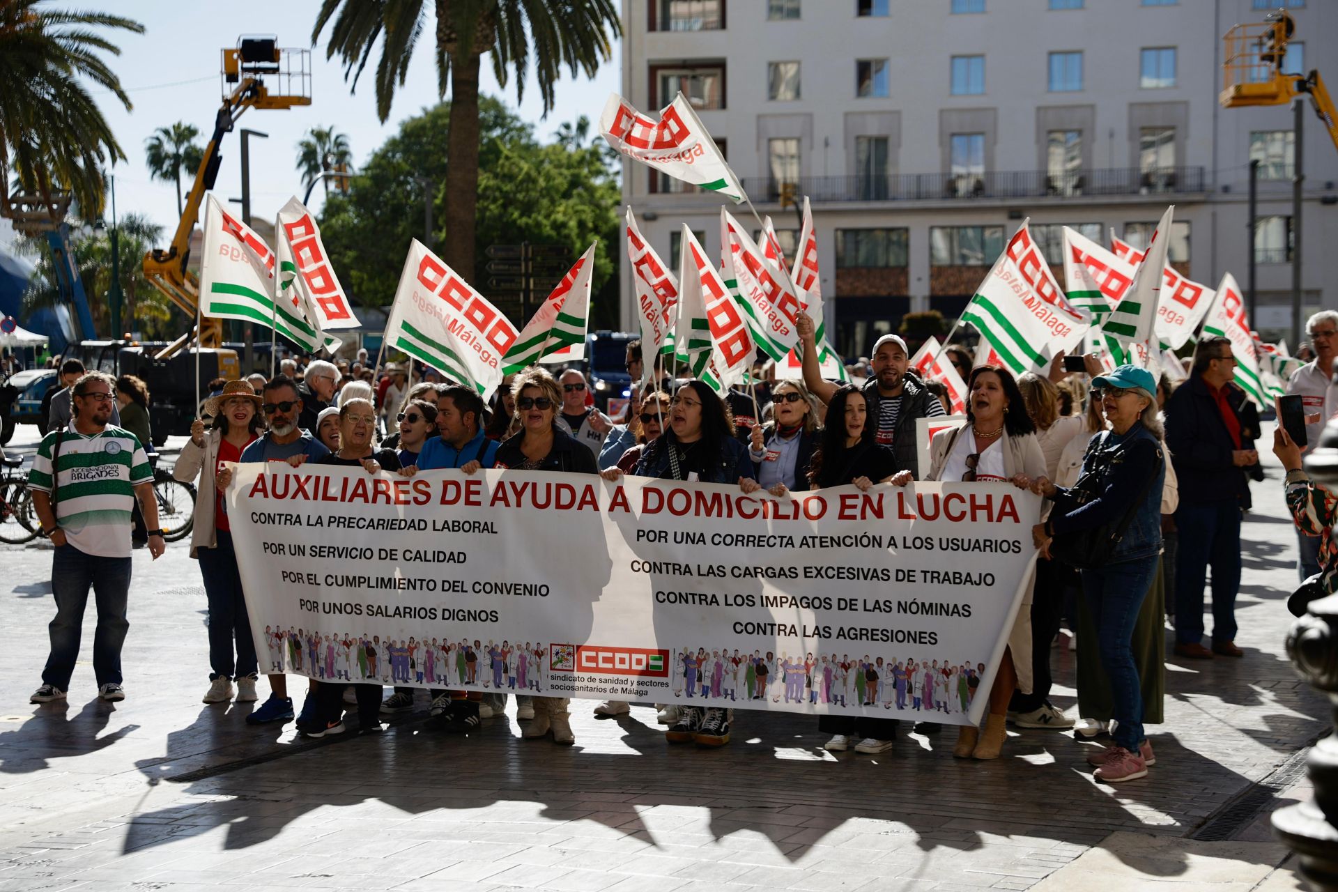
<svg viewBox="0 0 1338 892">
<path fill-rule="evenodd" d="M 823 403 L 831 403 L 840 385 L 823 378 L 814 320 L 800 313 L 795 328 L 804 345 L 804 386 Z M 895 334 L 878 338 L 874 344 L 874 377 L 864 384 L 864 400 L 868 416 L 878 420 L 878 443 L 892 447 L 896 467 L 919 479 L 915 419 L 943 415 L 943 404 L 917 378 L 906 374 L 909 366 L 906 341 Z"/>
</svg>

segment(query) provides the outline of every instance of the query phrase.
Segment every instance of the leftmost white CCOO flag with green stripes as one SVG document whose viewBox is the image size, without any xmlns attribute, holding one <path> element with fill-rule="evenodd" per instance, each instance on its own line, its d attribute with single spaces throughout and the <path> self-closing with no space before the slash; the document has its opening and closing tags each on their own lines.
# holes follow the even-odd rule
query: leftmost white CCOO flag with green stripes
<svg viewBox="0 0 1338 892">
<path fill-rule="evenodd" d="M 260 322 L 304 350 L 339 349 L 339 338 L 321 334 L 301 301 L 276 302 L 277 257 L 246 223 L 223 210 L 213 195 L 205 203 L 205 245 L 199 263 L 199 312 L 211 318 Z"/>
</svg>

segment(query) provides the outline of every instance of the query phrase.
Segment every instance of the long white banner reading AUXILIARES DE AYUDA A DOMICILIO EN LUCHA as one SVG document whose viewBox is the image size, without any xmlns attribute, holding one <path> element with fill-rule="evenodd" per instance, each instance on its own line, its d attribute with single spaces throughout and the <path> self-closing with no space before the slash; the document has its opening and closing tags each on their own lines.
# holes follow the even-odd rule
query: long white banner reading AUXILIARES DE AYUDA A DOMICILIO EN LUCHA
<svg viewBox="0 0 1338 892">
<path fill-rule="evenodd" d="M 1040 516 L 1036 495 L 989 483 L 776 499 L 644 477 L 229 467 L 264 671 L 943 723 L 986 709 Z M 915 710 L 896 679 L 910 661 L 969 666 L 978 694 L 966 673 L 947 690 L 935 678 L 941 697 Z M 763 662 L 767 687 L 749 687 Z"/>
</svg>

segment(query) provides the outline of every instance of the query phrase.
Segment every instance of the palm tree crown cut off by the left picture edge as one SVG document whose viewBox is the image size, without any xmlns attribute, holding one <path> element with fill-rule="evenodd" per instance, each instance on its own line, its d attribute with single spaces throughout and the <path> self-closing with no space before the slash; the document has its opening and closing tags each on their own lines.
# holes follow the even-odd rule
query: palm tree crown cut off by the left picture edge
<svg viewBox="0 0 1338 892">
<path fill-rule="evenodd" d="M 74 193 L 86 218 L 102 214 L 103 167 L 126 154 L 83 79 L 112 92 L 127 111 L 130 96 L 99 52 L 120 55 L 102 29 L 143 33 L 132 19 L 102 12 L 37 9 L 40 0 L 0 3 L 0 210 L 13 174 L 23 190 L 54 205 Z"/>
</svg>

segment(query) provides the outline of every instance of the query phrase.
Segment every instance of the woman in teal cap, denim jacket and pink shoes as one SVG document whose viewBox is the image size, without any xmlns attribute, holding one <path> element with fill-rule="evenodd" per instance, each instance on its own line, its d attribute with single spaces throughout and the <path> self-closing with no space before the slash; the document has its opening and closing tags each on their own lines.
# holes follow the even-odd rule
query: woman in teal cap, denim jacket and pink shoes
<svg viewBox="0 0 1338 892">
<path fill-rule="evenodd" d="M 1092 439 L 1082 472 L 1105 468 L 1100 491 L 1080 501 L 1077 491 L 1041 477 L 1033 489 L 1054 501 L 1050 519 L 1033 528 L 1036 544 L 1049 556 L 1056 535 L 1117 524 L 1133 510 L 1124 536 L 1105 566 L 1082 571 L 1082 596 L 1097 627 L 1101 663 L 1113 695 L 1115 746 L 1093 754 L 1096 778 L 1107 782 L 1147 777 L 1152 745 L 1143 733 L 1143 699 L 1131 641 L 1143 598 L 1161 552 L 1161 488 L 1165 456 L 1157 421 L 1156 381 L 1145 369 L 1121 365 L 1092 381 L 1111 431 Z"/>
</svg>

